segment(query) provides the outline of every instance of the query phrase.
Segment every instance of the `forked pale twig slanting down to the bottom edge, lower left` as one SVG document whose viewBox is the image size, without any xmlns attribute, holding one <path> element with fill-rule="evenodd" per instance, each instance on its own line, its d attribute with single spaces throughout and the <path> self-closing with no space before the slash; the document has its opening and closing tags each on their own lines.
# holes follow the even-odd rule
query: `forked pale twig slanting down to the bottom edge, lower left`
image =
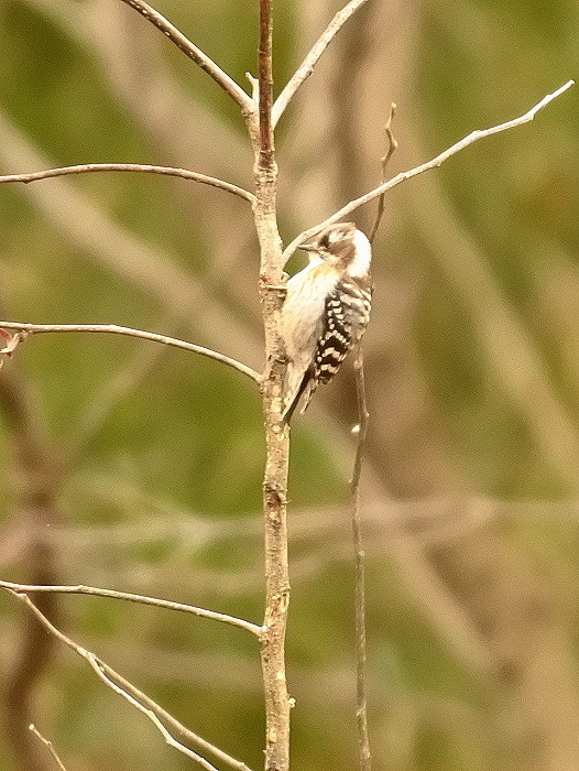
<svg viewBox="0 0 579 771">
<path fill-rule="evenodd" d="M 174 739 L 171 736 L 165 726 L 161 723 L 161 718 L 165 719 L 177 730 L 186 734 L 187 737 L 193 741 L 199 743 L 210 752 L 214 752 L 216 757 L 219 757 L 221 760 L 229 763 L 238 771 L 250 771 L 250 769 L 244 763 L 240 762 L 239 760 L 236 760 L 234 758 L 231 758 L 222 750 L 219 750 L 217 747 L 214 747 L 214 745 L 211 745 L 210 742 L 206 741 L 205 739 L 201 739 L 200 737 L 197 737 L 195 734 L 193 734 L 193 731 L 189 731 L 187 728 L 182 726 L 175 718 L 173 718 L 171 715 L 168 715 L 168 713 L 166 713 L 162 707 L 160 707 L 159 704 L 153 702 L 153 699 L 151 699 L 149 696 L 142 694 L 139 691 L 139 688 L 129 683 L 129 681 L 122 677 L 122 675 L 116 672 L 111 666 L 106 664 L 100 658 L 96 656 L 94 653 L 87 651 L 85 648 L 76 643 L 69 637 L 64 634 L 64 632 L 62 632 L 59 629 L 56 629 L 56 627 L 52 625 L 48 621 L 48 619 L 39 610 L 34 602 L 32 602 L 28 595 L 13 591 L 12 589 L 7 589 L 7 591 L 24 605 L 26 605 L 30 608 L 30 610 L 34 613 L 34 616 L 39 619 L 39 621 L 52 634 L 54 634 L 54 637 L 56 637 L 61 642 L 67 645 L 75 653 L 78 653 L 78 655 L 83 656 L 83 659 L 85 659 L 85 661 L 88 662 L 94 672 L 106 685 L 119 693 L 130 704 L 135 706 L 143 714 L 145 714 L 146 717 L 149 717 L 149 719 L 156 726 L 156 728 L 159 728 L 159 730 L 162 732 L 165 741 L 168 745 L 177 749 L 179 752 L 183 752 L 189 758 L 196 760 L 198 763 L 200 763 L 200 765 L 203 765 L 203 768 L 206 769 L 206 771 L 217 771 L 215 765 L 212 765 L 208 760 L 201 758 L 201 756 L 197 754 L 188 747 L 185 747 L 185 745 L 182 745 L 181 742 L 176 741 L 176 739 Z"/>
</svg>

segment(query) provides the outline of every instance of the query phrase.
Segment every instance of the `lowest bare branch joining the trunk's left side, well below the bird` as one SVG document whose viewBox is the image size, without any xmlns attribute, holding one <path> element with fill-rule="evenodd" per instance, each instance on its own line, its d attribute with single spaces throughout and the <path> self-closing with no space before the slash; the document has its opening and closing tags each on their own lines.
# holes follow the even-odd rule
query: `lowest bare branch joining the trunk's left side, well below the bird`
<svg viewBox="0 0 579 771">
<path fill-rule="evenodd" d="M 233 627 L 240 627 L 241 629 L 247 629 L 255 636 L 260 636 L 262 629 L 256 623 L 251 623 L 251 621 L 244 621 L 236 616 L 228 616 L 227 613 L 218 613 L 215 610 L 206 610 L 205 608 L 197 608 L 194 605 L 185 605 L 184 602 L 173 602 L 168 599 L 159 599 L 157 597 L 146 597 L 144 595 L 134 595 L 128 591 L 116 591 L 114 589 L 100 589 L 96 586 L 83 586 L 81 584 L 77 586 L 33 586 L 30 584 L 14 584 L 8 580 L 0 580 L 0 588 L 11 589 L 17 593 L 52 593 L 62 595 L 94 595 L 96 597 L 111 597 L 112 599 L 125 599 L 130 602 L 141 602 L 142 605 L 153 605 L 157 608 L 167 608 L 168 610 L 182 610 L 186 613 L 193 613 L 194 616 L 200 616 L 203 618 L 209 618 L 214 621 L 221 621 L 223 623 L 230 623 Z"/>
</svg>

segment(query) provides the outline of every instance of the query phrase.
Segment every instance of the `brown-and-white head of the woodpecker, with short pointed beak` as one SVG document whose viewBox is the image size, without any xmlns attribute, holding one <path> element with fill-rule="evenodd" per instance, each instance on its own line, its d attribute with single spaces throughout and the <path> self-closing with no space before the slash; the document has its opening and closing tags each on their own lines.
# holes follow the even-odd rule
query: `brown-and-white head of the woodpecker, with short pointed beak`
<svg viewBox="0 0 579 771">
<path fill-rule="evenodd" d="M 352 276 L 367 275 L 372 257 L 370 241 L 353 222 L 338 222 L 323 230 L 314 243 L 299 247 L 317 254 Z"/>
</svg>

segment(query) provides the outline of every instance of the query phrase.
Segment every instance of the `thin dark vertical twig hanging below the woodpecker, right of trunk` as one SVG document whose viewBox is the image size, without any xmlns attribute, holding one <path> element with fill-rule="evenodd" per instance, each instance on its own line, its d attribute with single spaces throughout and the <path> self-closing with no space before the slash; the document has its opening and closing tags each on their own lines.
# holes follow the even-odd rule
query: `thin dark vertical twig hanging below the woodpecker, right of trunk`
<svg viewBox="0 0 579 771">
<path fill-rule="evenodd" d="M 362 474 L 362 460 L 370 415 L 368 414 L 368 405 L 365 400 L 364 358 L 361 346 L 358 348 L 358 355 L 354 361 L 354 372 L 359 424 L 357 426 L 358 442 L 356 445 L 352 478 L 350 480 L 350 493 L 356 561 L 356 719 L 358 726 L 358 757 L 360 761 L 360 771 L 371 771 L 372 758 L 370 754 L 370 741 L 368 738 L 368 701 L 365 683 L 365 554 L 362 543 L 362 526 L 360 522 L 360 477 Z"/>
</svg>

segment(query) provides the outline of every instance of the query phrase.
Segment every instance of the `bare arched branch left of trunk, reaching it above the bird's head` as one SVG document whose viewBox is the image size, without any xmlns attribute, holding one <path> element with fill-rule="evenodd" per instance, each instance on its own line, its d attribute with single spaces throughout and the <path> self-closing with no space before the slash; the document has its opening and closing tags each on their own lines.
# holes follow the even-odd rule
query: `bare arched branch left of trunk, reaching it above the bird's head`
<svg viewBox="0 0 579 771">
<path fill-rule="evenodd" d="M 253 193 L 232 185 L 223 180 L 218 180 L 215 176 L 198 174 L 190 172 L 187 169 L 174 169 L 172 166 L 151 166 L 145 163 L 83 163 L 78 166 L 61 166 L 59 169 L 47 169 L 42 172 L 32 172 L 30 174 L 4 174 L 0 176 L 2 182 L 36 182 L 37 180 L 47 180 L 54 176 L 65 176 L 67 174 L 86 174 L 87 172 L 142 172 L 148 174 L 164 174 L 166 176 L 181 176 L 183 180 L 193 180 L 204 185 L 219 187 L 222 191 L 238 195 L 240 198 L 249 200 L 253 204 L 255 196 Z"/>
</svg>

